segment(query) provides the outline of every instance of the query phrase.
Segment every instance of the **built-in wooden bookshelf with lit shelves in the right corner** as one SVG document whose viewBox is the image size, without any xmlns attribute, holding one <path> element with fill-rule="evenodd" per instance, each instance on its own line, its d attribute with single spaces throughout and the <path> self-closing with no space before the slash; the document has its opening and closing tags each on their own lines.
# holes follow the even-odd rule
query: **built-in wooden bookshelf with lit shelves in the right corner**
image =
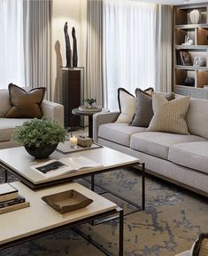
<svg viewBox="0 0 208 256">
<path fill-rule="evenodd" d="M 193 10 L 200 13 L 196 24 Z M 208 99 L 208 3 L 174 6 L 173 29 L 174 91 Z"/>
</svg>

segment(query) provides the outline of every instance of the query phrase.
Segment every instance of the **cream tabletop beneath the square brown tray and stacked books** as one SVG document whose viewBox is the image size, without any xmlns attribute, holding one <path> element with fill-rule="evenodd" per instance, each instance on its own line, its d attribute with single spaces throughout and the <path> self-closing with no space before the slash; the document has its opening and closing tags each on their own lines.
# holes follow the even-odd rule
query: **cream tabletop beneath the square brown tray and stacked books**
<svg viewBox="0 0 208 256">
<path fill-rule="evenodd" d="M 12 182 L 19 189 L 19 194 L 25 196 L 30 206 L 21 210 L 7 212 L 0 217 L 0 244 L 15 241 L 19 238 L 38 234 L 50 228 L 57 228 L 77 220 L 96 216 L 99 213 L 116 209 L 117 204 L 97 195 L 93 191 L 76 182 L 65 185 L 44 188 L 33 191 L 21 182 Z M 48 196 L 68 189 L 75 189 L 93 199 L 93 203 L 80 210 L 61 214 L 42 201 L 42 196 Z"/>
</svg>

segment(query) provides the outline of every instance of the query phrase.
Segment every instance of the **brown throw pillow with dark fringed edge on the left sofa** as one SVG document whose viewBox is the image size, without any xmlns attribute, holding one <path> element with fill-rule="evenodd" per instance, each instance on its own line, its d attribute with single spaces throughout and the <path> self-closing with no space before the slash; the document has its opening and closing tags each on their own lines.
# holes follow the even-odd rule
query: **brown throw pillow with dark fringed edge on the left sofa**
<svg viewBox="0 0 208 256">
<path fill-rule="evenodd" d="M 26 92 L 15 84 L 9 84 L 12 108 L 5 117 L 9 118 L 42 118 L 41 103 L 46 88 L 40 87 Z"/>
</svg>

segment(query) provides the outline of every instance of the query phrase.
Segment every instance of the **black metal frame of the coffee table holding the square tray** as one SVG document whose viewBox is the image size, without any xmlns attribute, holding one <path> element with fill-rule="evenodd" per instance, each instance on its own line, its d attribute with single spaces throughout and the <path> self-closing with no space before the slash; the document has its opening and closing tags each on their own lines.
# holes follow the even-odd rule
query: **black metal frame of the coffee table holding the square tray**
<svg viewBox="0 0 208 256">
<path fill-rule="evenodd" d="M 104 247 L 100 244 L 97 244 L 96 241 L 94 241 L 90 236 L 85 235 L 84 233 L 81 232 L 81 230 L 74 228 L 77 227 L 81 224 L 87 223 L 87 222 L 91 222 L 94 220 L 97 220 L 99 218 L 104 218 L 104 217 L 108 217 L 112 214 L 118 213 L 119 214 L 119 256 L 123 256 L 123 244 L 124 244 L 124 213 L 123 213 L 123 209 L 117 207 L 115 210 L 112 211 L 108 211 L 108 212 L 103 212 L 103 213 L 99 213 L 96 214 L 95 216 L 92 217 L 88 217 L 88 218 L 84 218 L 82 220 L 77 220 L 74 221 L 73 223 L 70 224 L 65 224 L 63 226 L 57 227 L 57 228 L 50 228 L 49 230 L 45 230 L 42 232 L 39 232 L 35 235 L 31 235 L 31 236 L 26 236 L 26 237 L 22 237 L 19 238 L 18 240 L 12 241 L 12 242 L 8 242 L 5 244 L 0 244 L 0 251 L 10 248 L 12 246 L 15 245 L 19 245 L 19 244 L 23 244 L 26 242 L 30 242 L 33 241 L 35 239 L 38 239 L 42 236 L 48 236 L 50 234 L 53 234 L 54 232 L 59 232 L 59 231 L 63 231 L 66 228 L 73 228 L 73 230 L 75 230 L 75 232 L 77 232 L 78 234 L 80 234 L 82 237 L 84 237 L 86 240 L 89 241 L 90 244 L 93 244 L 96 246 L 96 248 L 98 248 L 100 251 L 104 252 L 106 255 L 112 255 L 110 252 L 108 252 L 106 249 L 104 249 Z"/>
</svg>

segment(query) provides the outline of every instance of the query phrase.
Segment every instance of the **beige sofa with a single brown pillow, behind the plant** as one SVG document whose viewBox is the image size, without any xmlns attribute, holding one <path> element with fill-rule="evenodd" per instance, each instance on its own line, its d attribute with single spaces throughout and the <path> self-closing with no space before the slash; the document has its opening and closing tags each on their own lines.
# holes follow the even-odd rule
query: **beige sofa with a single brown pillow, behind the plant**
<svg viewBox="0 0 208 256">
<path fill-rule="evenodd" d="M 15 127 L 23 124 L 25 118 L 5 118 L 5 114 L 12 108 L 8 90 L 0 90 L 0 148 L 12 148 L 19 146 L 19 143 L 11 141 Z M 64 107 L 58 103 L 48 100 L 42 101 L 42 112 L 44 116 L 56 119 L 64 124 Z"/>
</svg>

